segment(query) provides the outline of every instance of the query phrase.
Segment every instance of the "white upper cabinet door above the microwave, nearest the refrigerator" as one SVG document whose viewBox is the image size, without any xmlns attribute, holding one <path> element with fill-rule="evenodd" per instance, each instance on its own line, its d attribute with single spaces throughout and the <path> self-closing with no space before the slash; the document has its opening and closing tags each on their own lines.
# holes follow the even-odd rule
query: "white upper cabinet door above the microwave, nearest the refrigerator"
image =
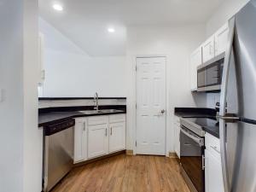
<svg viewBox="0 0 256 192">
<path fill-rule="evenodd" d="M 229 25 L 226 23 L 215 33 L 215 55 L 224 53 L 229 36 Z"/>
</svg>

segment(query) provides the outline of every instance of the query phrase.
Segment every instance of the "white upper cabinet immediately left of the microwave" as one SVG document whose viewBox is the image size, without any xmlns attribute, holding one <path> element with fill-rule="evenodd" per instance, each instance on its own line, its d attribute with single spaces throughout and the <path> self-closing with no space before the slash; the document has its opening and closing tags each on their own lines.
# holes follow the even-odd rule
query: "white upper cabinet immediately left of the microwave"
<svg viewBox="0 0 256 192">
<path fill-rule="evenodd" d="M 197 67 L 202 64 L 201 46 L 191 54 L 190 57 L 190 86 L 191 90 L 197 89 Z"/>
</svg>

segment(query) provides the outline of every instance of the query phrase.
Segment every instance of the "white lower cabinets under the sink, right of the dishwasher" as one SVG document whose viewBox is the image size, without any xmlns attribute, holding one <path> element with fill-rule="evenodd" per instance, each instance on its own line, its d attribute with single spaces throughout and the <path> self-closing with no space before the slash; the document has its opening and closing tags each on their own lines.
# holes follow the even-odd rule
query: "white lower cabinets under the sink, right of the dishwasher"
<svg viewBox="0 0 256 192">
<path fill-rule="evenodd" d="M 76 119 L 74 163 L 125 149 L 125 114 Z"/>
</svg>

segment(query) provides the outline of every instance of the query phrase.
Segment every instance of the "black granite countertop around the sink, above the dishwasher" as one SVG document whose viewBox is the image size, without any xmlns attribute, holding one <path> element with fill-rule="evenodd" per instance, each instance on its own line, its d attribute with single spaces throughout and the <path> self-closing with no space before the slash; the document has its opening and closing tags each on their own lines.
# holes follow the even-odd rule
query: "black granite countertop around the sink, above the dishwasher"
<svg viewBox="0 0 256 192">
<path fill-rule="evenodd" d="M 120 110 L 119 112 L 113 112 L 113 113 L 91 113 L 91 114 L 84 114 L 79 111 L 39 113 L 38 127 L 55 124 L 55 123 L 61 122 L 66 119 L 97 116 L 97 115 L 119 114 L 119 113 L 126 113 L 126 111 Z"/>
</svg>

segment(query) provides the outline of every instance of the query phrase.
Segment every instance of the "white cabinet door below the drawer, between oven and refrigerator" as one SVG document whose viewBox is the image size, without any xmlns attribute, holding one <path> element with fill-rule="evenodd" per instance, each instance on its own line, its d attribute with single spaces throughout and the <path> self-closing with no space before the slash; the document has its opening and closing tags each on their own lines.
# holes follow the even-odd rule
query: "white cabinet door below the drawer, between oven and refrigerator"
<svg viewBox="0 0 256 192">
<path fill-rule="evenodd" d="M 205 150 L 206 192 L 224 192 L 221 161 Z"/>
</svg>

